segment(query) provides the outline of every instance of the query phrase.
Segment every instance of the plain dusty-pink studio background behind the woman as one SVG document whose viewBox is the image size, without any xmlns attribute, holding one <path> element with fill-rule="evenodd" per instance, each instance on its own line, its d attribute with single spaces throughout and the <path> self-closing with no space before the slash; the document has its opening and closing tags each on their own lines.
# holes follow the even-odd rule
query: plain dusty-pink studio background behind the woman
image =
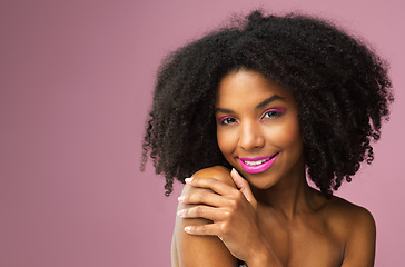
<svg viewBox="0 0 405 267">
<path fill-rule="evenodd" d="M 255 7 L 330 18 L 391 61 L 392 120 L 337 195 L 374 214 L 376 266 L 405 266 L 402 0 L 1 0 L 0 266 L 170 266 L 180 186 L 166 198 L 151 166 L 138 170 L 154 75 Z"/>
</svg>

